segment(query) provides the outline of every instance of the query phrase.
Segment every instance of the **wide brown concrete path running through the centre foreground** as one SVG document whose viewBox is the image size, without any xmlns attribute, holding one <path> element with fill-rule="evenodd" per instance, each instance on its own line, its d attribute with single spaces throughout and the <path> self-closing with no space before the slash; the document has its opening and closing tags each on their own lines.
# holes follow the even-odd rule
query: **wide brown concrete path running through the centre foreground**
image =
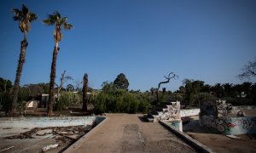
<svg viewBox="0 0 256 153">
<path fill-rule="evenodd" d="M 107 114 L 91 133 L 65 152 L 195 152 L 158 122 L 143 122 L 143 115 Z"/>
</svg>

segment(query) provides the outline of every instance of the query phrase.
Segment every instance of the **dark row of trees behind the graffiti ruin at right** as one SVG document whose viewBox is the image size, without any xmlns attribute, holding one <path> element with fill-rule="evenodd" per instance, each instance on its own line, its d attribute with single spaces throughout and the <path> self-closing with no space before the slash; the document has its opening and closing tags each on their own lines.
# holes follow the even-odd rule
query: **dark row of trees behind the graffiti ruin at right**
<svg viewBox="0 0 256 153">
<path fill-rule="evenodd" d="M 210 86 L 203 81 L 185 79 L 183 86 L 173 95 L 186 106 L 198 106 L 203 99 L 226 99 L 232 105 L 256 105 L 256 83 L 216 83 Z"/>
</svg>

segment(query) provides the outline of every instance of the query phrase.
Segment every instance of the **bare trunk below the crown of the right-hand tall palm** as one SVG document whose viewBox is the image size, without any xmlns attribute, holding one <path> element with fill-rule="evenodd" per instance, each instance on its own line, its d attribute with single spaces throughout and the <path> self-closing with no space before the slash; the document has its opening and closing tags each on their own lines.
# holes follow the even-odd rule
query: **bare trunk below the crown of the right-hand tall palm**
<svg viewBox="0 0 256 153">
<path fill-rule="evenodd" d="M 55 101 L 55 76 L 56 76 L 56 60 L 58 51 L 58 42 L 55 43 L 55 50 L 52 56 L 52 63 L 50 69 L 50 82 L 49 82 L 49 103 L 48 103 L 48 116 L 52 115 L 52 105 Z"/>
</svg>

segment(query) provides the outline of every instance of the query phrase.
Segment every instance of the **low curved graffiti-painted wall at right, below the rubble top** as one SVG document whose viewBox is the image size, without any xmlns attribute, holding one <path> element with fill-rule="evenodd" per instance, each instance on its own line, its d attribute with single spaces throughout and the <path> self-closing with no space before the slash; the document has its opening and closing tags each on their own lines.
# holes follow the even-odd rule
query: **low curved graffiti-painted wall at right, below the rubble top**
<svg viewBox="0 0 256 153">
<path fill-rule="evenodd" d="M 233 116 L 214 118 L 199 116 L 202 127 L 210 127 L 225 135 L 240 135 L 256 133 L 256 117 Z"/>
</svg>

